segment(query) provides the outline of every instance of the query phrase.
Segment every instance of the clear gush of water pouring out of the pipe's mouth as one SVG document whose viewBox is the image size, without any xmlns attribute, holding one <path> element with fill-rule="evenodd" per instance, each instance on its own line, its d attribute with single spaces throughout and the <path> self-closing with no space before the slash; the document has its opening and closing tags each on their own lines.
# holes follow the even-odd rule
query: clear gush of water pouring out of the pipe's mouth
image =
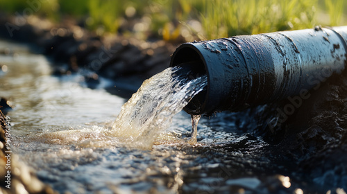
<svg viewBox="0 0 347 194">
<path fill-rule="evenodd" d="M 137 148 L 151 148 L 180 112 L 207 85 L 207 76 L 191 79 L 191 71 L 173 67 L 145 80 L 137 93 L 121 107 L 112 134 L 131 140 Z"/>
</svg>

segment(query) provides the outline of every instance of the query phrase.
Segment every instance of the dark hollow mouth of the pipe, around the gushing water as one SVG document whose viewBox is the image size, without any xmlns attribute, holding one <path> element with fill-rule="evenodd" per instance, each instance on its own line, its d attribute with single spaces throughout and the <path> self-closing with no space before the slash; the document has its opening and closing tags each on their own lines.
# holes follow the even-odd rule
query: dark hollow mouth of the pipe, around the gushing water
<svg viewBox="0 0 347 194">
<path fill-rule="evenodd" d="M 207 73 L 205 69 L 205 62 L 202 60 L 201 53 L 192 44 L 183 44 L 180 46 L 171 58 L 171 67 L 185 67 L 189 66 L 192 70 L 194 77 L 198 78 Z M 190 75 L 189 75 L 190 76 Z M 208 89 L 204 89 L 198 93 L 192 100 L 185 106 L 184 110 L 188 114 L 201 114 L 205 107 L 205 100 L 207 98 Z"/>
</svg>

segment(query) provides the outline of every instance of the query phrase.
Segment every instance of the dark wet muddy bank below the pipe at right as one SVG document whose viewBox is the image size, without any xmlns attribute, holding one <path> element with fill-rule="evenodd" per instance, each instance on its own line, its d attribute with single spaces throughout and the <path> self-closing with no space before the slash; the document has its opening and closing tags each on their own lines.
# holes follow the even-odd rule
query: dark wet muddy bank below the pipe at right
<svg viewBox="0 0 347 194">
<path fill-rule="evenodd" d="M 291 99 L 296 101 L 286 99 L 247 110 L 246 115 L 257 125 L 246 125 L 246 131 L 270 143 L 264 154 L 273 161 L 274 168 L 285 164 L 285 175 L 316 186 L 308 186 L 306 191 L 346 191 L 346 69 L 309 94 L 306 100 L 294 96 Z M 288 107 L 294 109 L 289 111 Z"/>
</svg>

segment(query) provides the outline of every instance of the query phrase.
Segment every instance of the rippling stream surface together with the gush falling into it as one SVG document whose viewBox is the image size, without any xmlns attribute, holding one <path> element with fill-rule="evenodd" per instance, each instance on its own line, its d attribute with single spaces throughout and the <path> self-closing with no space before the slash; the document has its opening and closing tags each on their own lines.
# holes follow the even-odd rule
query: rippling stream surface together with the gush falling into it
<svg viewBox="0 0 347 194">
<path fill-rule="evenodd" d="M 51 76 L 46 58 L 26 46 L 1 42 L 0 51 L 0 96 L 13 107 L 14 153 L 60 193 L 292 193 L 303 185 L 264 154 L 268 144 L 244 130 L 254 122 L 242 114 L 201 118 L 197 139 L 187 143 L 191 118 L 180 109 L 205 77 L 183 79 L 167 69 L 126 103 L 84 87 L 78 73 Z M 160 87 L 148 91 L 153 85 Z"/>
</svg>

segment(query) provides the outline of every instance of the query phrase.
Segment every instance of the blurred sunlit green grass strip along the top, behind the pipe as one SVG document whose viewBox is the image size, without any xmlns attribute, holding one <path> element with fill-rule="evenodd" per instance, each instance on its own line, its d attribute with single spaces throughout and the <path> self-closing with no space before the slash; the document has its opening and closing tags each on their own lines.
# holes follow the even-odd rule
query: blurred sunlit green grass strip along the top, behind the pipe
<svg viewBox="0 0 347 194">
<path fill-rule="evenodd" d="M 346 25 L 344 10 L 344 0 L 0 0 L 8 15 L 72 19 L 98 35 L 176 42 Z"/>
</svg>

